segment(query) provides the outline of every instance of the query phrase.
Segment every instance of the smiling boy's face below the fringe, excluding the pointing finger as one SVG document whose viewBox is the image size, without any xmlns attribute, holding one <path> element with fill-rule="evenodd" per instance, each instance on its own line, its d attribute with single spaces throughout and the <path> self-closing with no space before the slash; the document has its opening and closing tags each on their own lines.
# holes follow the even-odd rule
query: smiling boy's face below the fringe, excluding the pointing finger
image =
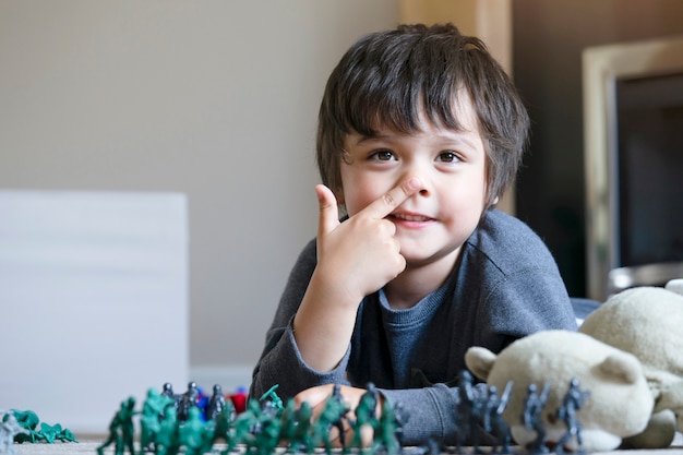
<svg viewBox="0 0 683 455">
<path fill-rule="evenodd" d="M 399 181 L 418 177 L 422 190 L 386 218 L 407 266 L 453 261 L 477 227 L 486 206 L 486 152 L 469 103 L 456 115 L 464 131 L 442 129 L 427 117 L 420 131 L 404 134 L 380 128 L 374 137 L 346 137 L 342 161 L 343 189 L 337 194 L 354 216 Z"/>
</svg>

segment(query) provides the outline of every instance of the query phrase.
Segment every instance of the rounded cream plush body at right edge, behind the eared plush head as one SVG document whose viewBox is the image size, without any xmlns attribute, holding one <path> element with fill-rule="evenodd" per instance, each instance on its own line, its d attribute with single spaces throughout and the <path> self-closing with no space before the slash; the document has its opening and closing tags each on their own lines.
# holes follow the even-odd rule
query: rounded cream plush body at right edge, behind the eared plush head
<svg viewBox="0 0 683 455">
<path fill-rule="evenodd" d="M 634 355 L 643 364 L 655 399 L 647 429 L 624 441 L 626 447 L 671 444 L 678 417 L 683 431 L 683 280 L 666 288 L 635 287 L 609 298 L 590 313 L 579 332 Z"/>
</svg>

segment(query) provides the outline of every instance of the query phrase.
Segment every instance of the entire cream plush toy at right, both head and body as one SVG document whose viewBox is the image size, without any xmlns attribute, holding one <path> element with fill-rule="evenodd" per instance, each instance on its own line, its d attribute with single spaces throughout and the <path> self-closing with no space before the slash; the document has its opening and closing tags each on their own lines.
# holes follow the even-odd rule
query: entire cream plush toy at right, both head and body
<svg viewBox="0 0 683 455">
<path fill-rule="evenodd" d="M 498 356 L 472 347 L 465 361 L 498 390 L 513 382 L 504 418 L 520 445 L 537 438 L 523 421 L 529 385 L 550 385 L 540 421 L 553 445 L 566 433 L 559 411 L 576 380 L 589 393 L 577 411 L 584 450 L 667 447 L 683 431 L 683 280 L 621 291 L 588 314 L 578 332 L 539 332 Z M 576 450 L 577 441 L 565 446 Z"/>
</svg>

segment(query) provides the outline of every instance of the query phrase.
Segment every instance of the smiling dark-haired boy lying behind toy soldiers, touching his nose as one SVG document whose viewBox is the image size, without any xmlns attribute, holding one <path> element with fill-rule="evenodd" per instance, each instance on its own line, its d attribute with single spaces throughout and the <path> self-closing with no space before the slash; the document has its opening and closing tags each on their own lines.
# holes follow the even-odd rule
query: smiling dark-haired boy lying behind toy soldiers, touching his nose
<svg viewBox="0 0 683 455">
<path fill-rule="evenodd" d="M 484 45 L 451 24 L 357 41 L 320 110 L 317 237 L 291 271 L 251 395 L 277 383 L 320 407 L 339 383 L 354 409 L 372 382 L 408 410 L 405 444 L 452 445 L 468 347 L 576 330 L 546 246 L 493 208 L 528 123 Z"/>
</svg>

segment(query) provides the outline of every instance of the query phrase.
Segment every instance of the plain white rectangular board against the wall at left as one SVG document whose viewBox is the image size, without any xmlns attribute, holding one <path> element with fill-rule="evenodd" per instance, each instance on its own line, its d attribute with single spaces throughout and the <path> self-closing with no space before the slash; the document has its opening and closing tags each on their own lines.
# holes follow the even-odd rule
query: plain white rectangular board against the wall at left
<svg viewBox="0 0 683 455">
<path fill-rule="evenodd" d="M 180 193 L 0 191 L 0 409 L 104 434 L 129 396 L 184 391 Z"/>
</svg>

